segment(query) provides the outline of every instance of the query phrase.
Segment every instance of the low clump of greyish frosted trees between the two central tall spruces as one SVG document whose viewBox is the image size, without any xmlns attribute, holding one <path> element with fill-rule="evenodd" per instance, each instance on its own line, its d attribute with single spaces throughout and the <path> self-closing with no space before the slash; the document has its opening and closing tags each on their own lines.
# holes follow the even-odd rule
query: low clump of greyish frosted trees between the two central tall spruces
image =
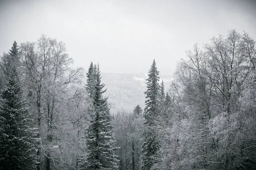
<svg viewBox="0 0 256 170">
<path fill-rule="evenodd" d="M 116 151 L 120 160 L 119 170 L 140 170 L 143 120 L 143 115 L 137 112 L 118 112 L 114 116 L 114 132 L 119 147 Z"/>
</svg>

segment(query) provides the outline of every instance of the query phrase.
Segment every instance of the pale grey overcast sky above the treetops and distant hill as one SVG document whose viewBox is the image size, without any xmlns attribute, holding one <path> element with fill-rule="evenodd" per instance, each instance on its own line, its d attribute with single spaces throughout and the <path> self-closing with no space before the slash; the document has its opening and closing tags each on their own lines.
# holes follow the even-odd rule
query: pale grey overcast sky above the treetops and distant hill
<svg viewBox="0 0 256 170">
<path fill-rule="evenodd" d="M 45 34 L 66 43 L 76 66 L 99 62 L 102 72 L 160 74 L 197 42 L 228 30 L 256 40 L 255 0 L 1 0 L 0 54 L 14 40 Z"/>
</svg>

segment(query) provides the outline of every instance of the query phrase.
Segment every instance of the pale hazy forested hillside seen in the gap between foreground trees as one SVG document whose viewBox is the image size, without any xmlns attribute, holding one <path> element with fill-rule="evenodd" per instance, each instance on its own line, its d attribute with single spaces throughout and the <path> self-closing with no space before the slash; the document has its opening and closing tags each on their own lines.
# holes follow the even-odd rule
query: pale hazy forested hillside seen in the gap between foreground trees
<svg viewBox="0 0 256 170">
<path fill-rule="evenodd" d="M 147 78 L 147 74 L 102 73 L 102 83 L 108 89 L 105 96 L 108 96 L 108 102 L 113 105 L 111 112 L 132 111 L 137 105 L 144 108 Z M 167 90 L 172 77 L 160 75 L 160 81 L 162 79 Z"/>
</svg>

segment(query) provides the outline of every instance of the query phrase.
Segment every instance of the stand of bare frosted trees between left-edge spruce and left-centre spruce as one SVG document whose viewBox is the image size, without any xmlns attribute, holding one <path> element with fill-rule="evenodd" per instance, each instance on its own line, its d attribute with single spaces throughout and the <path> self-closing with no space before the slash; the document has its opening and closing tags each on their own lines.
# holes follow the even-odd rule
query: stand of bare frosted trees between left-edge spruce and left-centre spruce
<svg viewBox="0 0 256 170">
<path fill-rule="evenodd" d="M 77 159 L 82 156 L 80 153 L 85 155 L 76 143 L 82 142 L 83 137 L 74 133 L 86 125 L 87 97 L 80 84 L 83 69 L 71 68 L 73 59 L 67 54 L 64 42 L 44 35 L 37 42 L 22 43 L 20 57 L 24 91 L 34 114 L 38 136 L 42 138 L 38 170 L 42 167 L 47 170 L 76 168 Z M 79 105 L 81 100 L 84 105 Z"/>
</svg>

